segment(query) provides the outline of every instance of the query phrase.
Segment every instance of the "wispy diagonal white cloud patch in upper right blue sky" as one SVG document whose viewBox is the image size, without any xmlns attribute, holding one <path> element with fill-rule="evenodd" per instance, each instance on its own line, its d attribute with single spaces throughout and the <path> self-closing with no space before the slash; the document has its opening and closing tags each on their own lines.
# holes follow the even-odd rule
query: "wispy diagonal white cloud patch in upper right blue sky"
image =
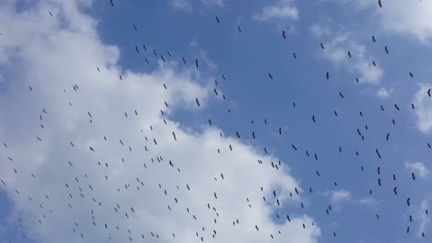
<svg viewBox="0 0 432 243">
<path fill-rule="evenodd" d="M 347 31 L 332 31 L 328 26 L 317 23 L 311 26 L 311 33 L 323 42 L 322 56 L 336 67 L 344 67 L 358 75 L 359 83 L 377 85 L 383 77 L 383 69 L 373 65 L 374 58 L 365 45 L 358 43 Z M 348 51 L 352 58 L 348 57 Z"/>
</svg>

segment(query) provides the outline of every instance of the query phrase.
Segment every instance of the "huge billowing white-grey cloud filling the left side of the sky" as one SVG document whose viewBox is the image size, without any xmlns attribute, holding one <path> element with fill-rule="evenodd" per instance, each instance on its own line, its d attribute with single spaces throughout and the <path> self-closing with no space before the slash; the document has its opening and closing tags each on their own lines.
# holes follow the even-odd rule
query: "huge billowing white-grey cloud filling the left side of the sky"
<svg viewBox="0 0 432 243">
<path fill-rule="evenodd" d="M 302 200 L 289 196 L 302 189 L 287 166 L 275 169 L 275 157 L 217 128 L 186 131 L 170 119 L 178 109 L 200 112 L 195 97 L 207 103 L 202 74 L 175 61 L 148 73 L 123 69 L 119 49 L 84 14 L 89 1 L 40 1 L 25 12 L 12 0 L 0 5 L 0 22 L 11 23 L 0 42 L 0 67 L 8 67 L 0 178 L 27 238 L 263 242 L 273 234 L 275 242 L 317 242 L 320 228 L 308 215 L 272 220 Z M 273 190 L 281 206 L 263 202 Z"/>
</svg>

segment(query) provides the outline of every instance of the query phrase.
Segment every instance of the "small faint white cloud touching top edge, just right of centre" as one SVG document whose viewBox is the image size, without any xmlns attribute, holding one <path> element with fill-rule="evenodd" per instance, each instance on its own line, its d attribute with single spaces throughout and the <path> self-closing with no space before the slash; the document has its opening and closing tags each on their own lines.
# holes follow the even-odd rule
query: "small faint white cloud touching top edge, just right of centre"
<svg viewBox="0 0 432 243">
<path fill-rule="evenodd" d="M 279 0 L 276 4 L 267 5 L 260 14 L 254 14 L 252 18 L 257 21 L 292 20 L 299 19 L 299 10 L 291 0 Z"/>
</svg>

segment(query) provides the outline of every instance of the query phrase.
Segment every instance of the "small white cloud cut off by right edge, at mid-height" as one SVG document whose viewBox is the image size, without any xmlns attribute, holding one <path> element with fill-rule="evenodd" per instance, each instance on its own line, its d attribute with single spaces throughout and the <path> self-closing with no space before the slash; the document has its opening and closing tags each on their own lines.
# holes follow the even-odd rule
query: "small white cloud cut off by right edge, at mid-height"
<svg viewBox="0 0 432 243">
<path fill-rule="evenodd" d="M 424 133 L 432 130 L 432 99 L 428 96 L 428 89 L 431 87 L 432 85 L 419 84 L 419 90 L 412 101 L 416 106 L 418 128 Z"/>
</svg>

